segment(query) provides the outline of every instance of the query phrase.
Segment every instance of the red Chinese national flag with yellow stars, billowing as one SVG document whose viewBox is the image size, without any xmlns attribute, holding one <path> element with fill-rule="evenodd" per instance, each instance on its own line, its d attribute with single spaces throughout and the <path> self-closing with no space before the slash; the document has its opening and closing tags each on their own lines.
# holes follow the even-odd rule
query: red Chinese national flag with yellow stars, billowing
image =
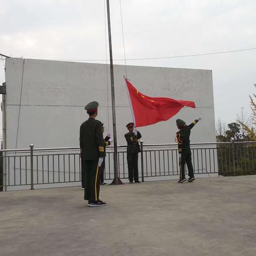
<svg viewBox="0 0 256 256">
<path fill-rule="evenodd" d="M 166 121 L 184 106 L 196 108 L 193 101 L 153 98 L 139 92 L 126 78 L 135 127 Z"/>
</svg>

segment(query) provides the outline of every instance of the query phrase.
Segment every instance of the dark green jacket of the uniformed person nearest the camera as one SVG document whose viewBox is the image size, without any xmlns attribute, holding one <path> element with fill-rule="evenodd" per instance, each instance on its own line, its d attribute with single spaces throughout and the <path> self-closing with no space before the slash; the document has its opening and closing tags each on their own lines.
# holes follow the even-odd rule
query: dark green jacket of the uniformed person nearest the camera
<svg viewBox="0 0 256 256">
<path fill-rule="evenodd" d="M 100 121 L 89 118 L 83 122 L 80 126 L 79 140 L 83 160 L 97 160 L 104 156 L 105 142 Z"/>
</svg>

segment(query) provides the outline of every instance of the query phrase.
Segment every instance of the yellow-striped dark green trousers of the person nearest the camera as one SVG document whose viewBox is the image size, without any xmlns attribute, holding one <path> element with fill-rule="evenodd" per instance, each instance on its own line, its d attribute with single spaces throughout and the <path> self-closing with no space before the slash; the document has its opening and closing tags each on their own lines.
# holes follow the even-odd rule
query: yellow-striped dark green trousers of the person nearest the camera
<svg viewBox="0 0 256 256">
<path fill-rule="evenodd" d="M 82 164 L 84 199 L 89 202 L 99 200 L 100 182 L 98 160 L 84 160 Z"/>
</svg>

